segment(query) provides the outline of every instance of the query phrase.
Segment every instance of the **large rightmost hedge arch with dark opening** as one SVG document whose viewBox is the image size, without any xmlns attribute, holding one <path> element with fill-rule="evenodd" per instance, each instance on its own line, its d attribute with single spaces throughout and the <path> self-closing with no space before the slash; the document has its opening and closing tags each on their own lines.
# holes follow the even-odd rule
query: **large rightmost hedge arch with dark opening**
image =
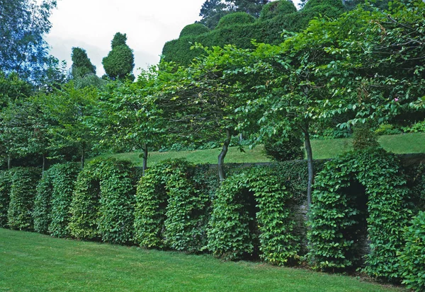
<svg viewBox="0 0 425 292">
<path fill-rule="evenodd" d="M 325 164 L 315 178 L 310 211 L 309 257 L 317 269 L 343 270 L 361 263 L 361 206 L 353 183 L 364 187 L 370 252 L 365 271 L 370 276 L 399 279 L 397 252 L 404 242 L 402 230 L 409 211 L 407 181 L 399 160 L 383 149 L 346 153 Z"/>
</svg>

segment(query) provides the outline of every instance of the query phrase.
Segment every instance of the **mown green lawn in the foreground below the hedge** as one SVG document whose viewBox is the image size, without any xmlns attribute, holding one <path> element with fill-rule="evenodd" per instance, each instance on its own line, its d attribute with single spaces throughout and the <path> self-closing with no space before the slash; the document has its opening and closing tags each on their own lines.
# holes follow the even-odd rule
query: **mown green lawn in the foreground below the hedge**
<svg viewBox="0 0 425 292">
<path fill-rule="evenodd" d="M 350 276 L 0 228 L 0 291 L 407 291 Z"/>
</svg>

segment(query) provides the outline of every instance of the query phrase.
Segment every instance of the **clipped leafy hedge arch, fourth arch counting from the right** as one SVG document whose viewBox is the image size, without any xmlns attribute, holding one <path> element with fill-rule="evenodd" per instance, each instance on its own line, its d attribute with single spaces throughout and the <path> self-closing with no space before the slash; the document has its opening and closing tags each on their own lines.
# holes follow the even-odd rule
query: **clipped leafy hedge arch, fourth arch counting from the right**
<svg viewBox="0 0 425 292">
<path fill-rule="evenodd" d="M 132 173 L 133 172 L 133 173 Z M 132 240 L 134 169 L 130 163 L 93 160 L 77 177 L 69 231 L 81 239 L 108 243 Z"/>
</svg>

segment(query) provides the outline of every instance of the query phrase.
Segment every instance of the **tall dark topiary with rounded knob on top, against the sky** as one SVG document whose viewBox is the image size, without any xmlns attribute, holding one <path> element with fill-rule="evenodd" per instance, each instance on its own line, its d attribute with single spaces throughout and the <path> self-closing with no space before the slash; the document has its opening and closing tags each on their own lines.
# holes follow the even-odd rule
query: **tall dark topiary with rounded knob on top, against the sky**
<svg viewBox="0 0 425 292">
<path fill-rule="evenodd" d="M 102 60 L 106 74 L 112 80 L 130 78 L 134 80 L 132 70 L 135 67 L 135 57 L 132 49 L 125 43 L 127 35 L 116 33 L 111 41 L 111 52 Z"/>
</svg>

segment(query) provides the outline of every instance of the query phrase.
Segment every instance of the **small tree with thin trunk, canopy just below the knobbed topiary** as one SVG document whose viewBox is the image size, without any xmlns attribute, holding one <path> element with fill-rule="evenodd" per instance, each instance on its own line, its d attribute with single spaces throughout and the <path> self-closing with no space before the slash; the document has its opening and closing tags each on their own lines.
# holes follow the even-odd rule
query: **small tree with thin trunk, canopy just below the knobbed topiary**
<svg viewBox="0 0 425 292">
<path fill-rule="evenodd" d="M 154 90 L 157 90 L 157 68 L 150 67 L 137 82 L 111 83 L 100 94 L 97 112 L 90 127 L 100 137 L 100 146 L 143 151 L 143 173 L 147 169 L 149 150 L 159 147 L 164 132 Z"/>
</svg>

